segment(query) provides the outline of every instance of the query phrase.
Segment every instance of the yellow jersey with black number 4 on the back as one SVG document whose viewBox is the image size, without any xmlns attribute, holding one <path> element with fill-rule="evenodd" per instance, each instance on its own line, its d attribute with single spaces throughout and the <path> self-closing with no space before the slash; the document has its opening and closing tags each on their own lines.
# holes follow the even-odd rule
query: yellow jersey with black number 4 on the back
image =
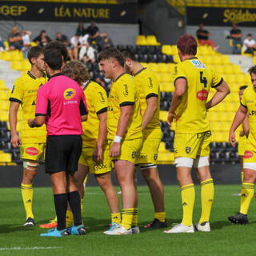
<svg viewBox="0 0 256 256">
<path fill-rule="evenodd" d="M 223 78 L 206 67 L 198 58 L 189 58 L 174 66 L 174 86 L 179 78 L 186 79 L 186 92 L 175 113 L 176 132 L 201 133 L 210 130 L 206 117 L 206 100 L 210 87 L 218 87 Z"/>
</svg>

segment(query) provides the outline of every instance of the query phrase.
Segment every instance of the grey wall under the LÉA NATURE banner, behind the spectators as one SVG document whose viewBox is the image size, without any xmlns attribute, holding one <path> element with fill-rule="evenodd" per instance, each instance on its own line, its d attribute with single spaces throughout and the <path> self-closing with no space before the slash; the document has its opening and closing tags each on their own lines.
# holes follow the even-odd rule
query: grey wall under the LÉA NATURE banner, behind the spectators
<svg viewBox="0 0 256 256">
<path fill-rule="evenodd" d="M 17 23 L 19 30 L 24 28 L 32 32 L 31 40 L 38 36 L 41 30 L 46 30 L 47 35 L 51 39 L 55 39 L 55 34 L 61 32 L 66 34 L 68 38 L 74 36 L 78 27 L 78 22 L 22 22 Z M 97 23 L 98 29 L 101 33 L 108 34 L 114 42 L 114 45 L 118 44 L 130 44 L 135 45 L 136 37 L 138 35 L 138 24 L 110 24 L 110 23 Z M 13 21 L 0 21 L 0 27 L 11 30 L 14 26 Z M 84 23 L 84 27 L 90 26 L 89 23 Z M 4 40 L 7 39 L 7 34 L 0 33 Z"/>
</svg>

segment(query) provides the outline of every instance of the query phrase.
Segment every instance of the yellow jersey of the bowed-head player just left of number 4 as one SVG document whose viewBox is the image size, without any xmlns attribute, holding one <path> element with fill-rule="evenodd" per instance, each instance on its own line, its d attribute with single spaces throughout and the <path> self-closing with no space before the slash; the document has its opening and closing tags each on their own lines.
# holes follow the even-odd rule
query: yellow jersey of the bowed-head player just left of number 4
<svg viewBox="0 0 256 256">
<path fill-rule="evenodd" d="M 154 117 L 150 120 L 146 128 L 143 130 L 144 138 L 161 138 L 162 132 L 160 128 L 160 86 L 158 78 L 154 73 L 147 69 L 143 68 L 139 70 L 137 74 L 134 74 L 135 82 L 139 88 L 139 98 L 141 102 L 142 116 L 146 110 L 146 100 L 150 97 L 158 98 L 158 109 L 154 113 Z"/>
</svg>

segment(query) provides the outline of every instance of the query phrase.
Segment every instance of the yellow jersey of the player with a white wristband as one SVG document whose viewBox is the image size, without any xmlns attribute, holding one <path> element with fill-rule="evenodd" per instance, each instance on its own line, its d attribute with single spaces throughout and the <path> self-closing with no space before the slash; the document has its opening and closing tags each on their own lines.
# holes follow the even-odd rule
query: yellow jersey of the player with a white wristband
<svg viewBox="0 0 256 256">
<path fill-rule="evenodd" d="M 124 140 L 142 138 L 142 115 L 138 87 L 130 74 L 121 74 L 112 84 L 109 95 L 109 109 L 107 112 L 108 140 L 114 140 L 118 129 L 118 120 L 122 106 L 133 106 Z"/>
</svg>

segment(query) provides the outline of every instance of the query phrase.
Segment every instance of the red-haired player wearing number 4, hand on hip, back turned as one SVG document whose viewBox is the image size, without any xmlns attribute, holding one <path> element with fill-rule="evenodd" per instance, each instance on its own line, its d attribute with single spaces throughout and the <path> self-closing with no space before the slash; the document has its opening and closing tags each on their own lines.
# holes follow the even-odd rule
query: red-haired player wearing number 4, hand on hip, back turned
<svg viewBox="0 0 256 256">
<path fill-rule="evenodd" d="M 202 214 L 196 230 L 210 231 L 210 210 L 214 201 L 214 182 L 210 174 L 210 124 L 206 110 L 217 105 L 230 93 L 230 88 L 205 64 L 195 57 L 197 41 L 190 34 L 178 39 L 178 55 L 181 62 L 174 66 L 174 96 L 171 102 L 168 124 L 176 121 L 174 137 L 174 164 L 182 194 L 182 223 L 166 233 L 194 233 L 194 183 L 191 168 L 198 172 L 201 184 Z M 210 87 L 216 90 L 206 102 Z"/>
</svg>

